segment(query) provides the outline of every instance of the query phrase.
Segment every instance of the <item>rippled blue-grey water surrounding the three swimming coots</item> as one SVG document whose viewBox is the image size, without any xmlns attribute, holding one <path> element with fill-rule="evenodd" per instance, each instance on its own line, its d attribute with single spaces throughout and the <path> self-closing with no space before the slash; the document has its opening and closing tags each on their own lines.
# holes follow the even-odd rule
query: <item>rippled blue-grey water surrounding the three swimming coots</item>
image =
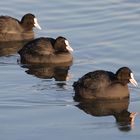
<svg viewBox="0 0 140 140">
<path fill-rule="evenodd" d="M 121 66 L 129 66 L 140 83 L 139 0 L 11 0 L 0 1 L 0 7 L 1 15 L 18 19 L 34 13 L 42 27 L 35 30 L 36 37 L 62 35 L 75 50 L 70 68 L 31 71 L 17 62 L 20 44 L 1 48 L 1 140 L 140 138 L 139 87 L 129 86 L 129 103 L 101 105 L 105 111 L 100 104 L 85 108 L 75 102 L 72 88 L 89 71 L 115 72 Z M 112 115 L 123 108 L 138 113 L 132 125 L 121 126 Z"/>
</svg>

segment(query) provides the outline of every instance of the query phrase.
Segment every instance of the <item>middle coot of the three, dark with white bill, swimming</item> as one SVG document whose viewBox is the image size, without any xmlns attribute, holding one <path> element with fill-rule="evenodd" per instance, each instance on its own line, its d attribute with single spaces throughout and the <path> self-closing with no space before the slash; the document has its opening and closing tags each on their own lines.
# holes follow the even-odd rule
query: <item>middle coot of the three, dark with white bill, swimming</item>
<svg viewBox="0 0 140 140">
<path fill-rule="evenodd" d="M 59 36 L 56 39 L 48 37 L 34 39 L 28 42 L 18 53 L 21 63 L 60 64 L 72 62 L 71 51 L 73 49 L 70 47 L 68 40 Z"/>
</svg>

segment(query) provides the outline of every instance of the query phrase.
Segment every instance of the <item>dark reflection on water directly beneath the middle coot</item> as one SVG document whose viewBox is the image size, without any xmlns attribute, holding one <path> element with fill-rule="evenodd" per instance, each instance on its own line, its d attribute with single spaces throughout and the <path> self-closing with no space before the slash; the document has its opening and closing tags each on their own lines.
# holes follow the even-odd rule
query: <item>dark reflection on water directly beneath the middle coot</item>
<svg viewBox="0 0 140 140">
<path fill-rule="evenodd" d="M 38 64 L 38 65 L 24 65 L 22 67 L 27 68 L 25 71 L 27 74 L 34 75 L 41 79 L 52 79 L 55 81 L 66 81 L 69 80 L 70 76 L 68 71 L 71 64 L 64 65 L 50 65 L 50 64 Z M 62 85 L 59 85 L 62 86 Z"/>
</svg>

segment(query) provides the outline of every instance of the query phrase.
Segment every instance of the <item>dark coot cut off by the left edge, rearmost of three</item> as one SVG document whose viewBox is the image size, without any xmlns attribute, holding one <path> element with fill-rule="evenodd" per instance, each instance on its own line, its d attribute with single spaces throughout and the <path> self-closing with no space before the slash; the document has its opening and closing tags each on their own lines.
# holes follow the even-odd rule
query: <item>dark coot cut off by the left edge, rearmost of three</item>
<svg viewBox="0 0 140 140">
<path fill-rule="evenodd" d="M 24 15 L 21 21 L 10 16 L 0 16 L 0 41 L 33 39 L 33 27 L 41 29 L 37 18 L 31 13 Z"/>
</svg>

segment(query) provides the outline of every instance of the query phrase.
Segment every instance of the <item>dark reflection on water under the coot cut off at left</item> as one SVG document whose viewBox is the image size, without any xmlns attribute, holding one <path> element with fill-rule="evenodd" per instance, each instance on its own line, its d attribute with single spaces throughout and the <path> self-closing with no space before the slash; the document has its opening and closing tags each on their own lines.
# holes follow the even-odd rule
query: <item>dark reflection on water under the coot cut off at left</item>
<svg viewBox="0 0 140 140">
<path fill-rule="evenodd" d="M 28 41 L 0 42 L 0 56 L 16 54 Z"/>
</svg>

